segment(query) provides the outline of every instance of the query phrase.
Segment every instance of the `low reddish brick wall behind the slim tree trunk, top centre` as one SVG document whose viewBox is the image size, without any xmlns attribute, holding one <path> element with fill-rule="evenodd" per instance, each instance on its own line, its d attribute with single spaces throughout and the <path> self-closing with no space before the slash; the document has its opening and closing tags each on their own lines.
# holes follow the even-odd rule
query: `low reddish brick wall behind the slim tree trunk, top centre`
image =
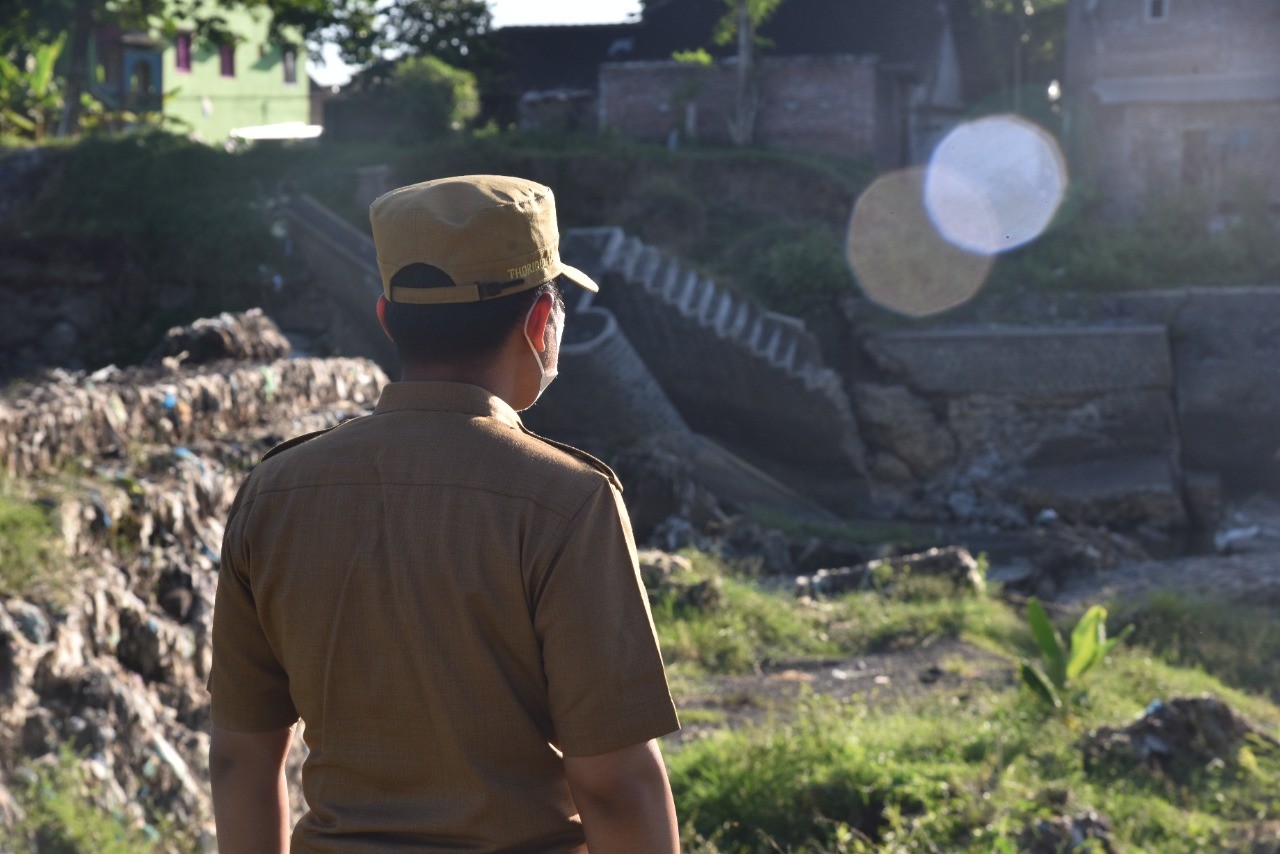
<svg viewBox="0 0 1280 854">
<path fill-rule="evenodd" d="M 736 101 L 732 64 L 696 69 L 675 61 L 600 67 L 600 127 L 646 142 L 684 133 L 689 105 L 707 142 L 730 141 Z M 877 61 L 788 56 L 760 61 L 756 142 L 785 151 L 858 156 L 876 150 Z"/>
</svg>

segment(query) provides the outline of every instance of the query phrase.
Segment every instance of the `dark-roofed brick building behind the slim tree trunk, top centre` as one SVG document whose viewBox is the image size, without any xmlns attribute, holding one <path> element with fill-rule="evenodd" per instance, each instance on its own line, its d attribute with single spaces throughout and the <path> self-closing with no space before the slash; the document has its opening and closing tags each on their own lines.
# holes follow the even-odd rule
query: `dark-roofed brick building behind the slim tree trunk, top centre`
<svg viewBox="0 0 1280 854">
<path fill-rule="evenodd" d="M 787 0 L 760 29 L 755 140 L 790 151 L 919 163 L 956 123 L 968 64 L 963 0 Z M 611 27 L 513 27 L 502 96 L 521 123 L 608 128 L 649 142 L 726 143 L 735 110 L 733 47 L 712 33 L 722 0 L 648 0 Z M 710 68 L 677 51 L 707 49 Z M 539 61 L 539 58 L 550 58 Z M 591 111 L 590 115 L 585 115 Z"/>
</svg>

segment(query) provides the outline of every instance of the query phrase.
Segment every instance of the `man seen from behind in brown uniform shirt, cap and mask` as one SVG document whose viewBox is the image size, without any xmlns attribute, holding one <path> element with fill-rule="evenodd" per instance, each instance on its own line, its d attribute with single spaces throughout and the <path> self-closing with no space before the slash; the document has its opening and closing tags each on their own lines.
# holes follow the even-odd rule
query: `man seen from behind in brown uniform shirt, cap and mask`
<svg viewBox="0 0 1280 854">
<path fill-rule="evenodd" d="M 678 729 L 621 487 L 517 411 L 556 376 L 552 192 L 472 175 L 370 218 L 402 380 L 268 453 L 214 611 L 221 854 L 678 849 L 655 739 Z"/>
</svg>

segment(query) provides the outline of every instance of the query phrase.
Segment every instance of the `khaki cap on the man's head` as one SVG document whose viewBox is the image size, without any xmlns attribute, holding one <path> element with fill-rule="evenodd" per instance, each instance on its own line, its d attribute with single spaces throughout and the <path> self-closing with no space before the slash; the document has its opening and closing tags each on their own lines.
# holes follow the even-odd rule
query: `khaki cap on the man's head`
<svg viewBox="0 0 1280 854">
<path fill-rule="evenodd" d="M 411 184 L 374 201 L 369 219 L 390 302 L 477 302 L 558 275 L 599 291 L 589 275 L 561 261 L 556 197 L 532 181 L 465 175 Z M 411 264 L 438 268 L 452 284 L 393 288 L 392 278 Z"/>
</svg>

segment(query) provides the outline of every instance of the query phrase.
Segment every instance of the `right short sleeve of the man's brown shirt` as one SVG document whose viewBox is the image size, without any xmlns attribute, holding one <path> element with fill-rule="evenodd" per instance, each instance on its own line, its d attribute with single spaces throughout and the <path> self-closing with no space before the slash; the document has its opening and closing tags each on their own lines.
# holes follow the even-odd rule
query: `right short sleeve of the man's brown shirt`
<svg viewBox="0 0 1280 854">
<path fill-rule="evenodd" d="M 608 481 L 570 520 L 535 589 L 534 625 L 566 755 L 609 753 L 680 729 L 631 522 Z"/>
</svg>

